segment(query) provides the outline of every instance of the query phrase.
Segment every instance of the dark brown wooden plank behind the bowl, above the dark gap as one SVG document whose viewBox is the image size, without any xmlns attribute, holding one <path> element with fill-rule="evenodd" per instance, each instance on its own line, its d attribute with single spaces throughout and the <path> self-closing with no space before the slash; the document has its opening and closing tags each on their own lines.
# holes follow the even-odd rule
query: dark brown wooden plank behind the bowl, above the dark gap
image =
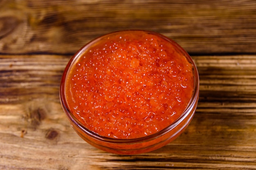
<svg viewBox="0 0 256 170">
<path fill-rule="evenodd" d="M 4 0 L 0 10 L 0 53 L 73 54 L 123 29 L 162 33 L 191 54 L 256 52 L 254 0 Z"/>
</svg>

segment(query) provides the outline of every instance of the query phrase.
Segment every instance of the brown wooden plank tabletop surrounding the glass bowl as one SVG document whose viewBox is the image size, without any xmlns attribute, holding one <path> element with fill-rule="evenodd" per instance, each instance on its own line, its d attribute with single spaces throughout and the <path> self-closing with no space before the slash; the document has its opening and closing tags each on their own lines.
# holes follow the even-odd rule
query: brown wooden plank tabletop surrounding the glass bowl
<svg viewBox="0 0 256 170">
<path fill-rule="evenodd" d="M 70 57 L 105 33 L 145 29 L 178 42 L 200 75 L 185 132 L 150 153 L 98 150 L 59 101 Z M 256 1 L 0 0 L 1 170 L 255 170 Z"/>
</svg>

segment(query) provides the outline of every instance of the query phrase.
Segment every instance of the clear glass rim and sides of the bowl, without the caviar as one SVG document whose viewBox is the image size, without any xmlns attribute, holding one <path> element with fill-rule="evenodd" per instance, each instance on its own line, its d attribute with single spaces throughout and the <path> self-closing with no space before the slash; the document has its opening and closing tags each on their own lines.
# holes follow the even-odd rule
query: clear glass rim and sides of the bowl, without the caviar
<svg viewBox="0 0 256 170">
<path fill-rule="evenodd" d="M 94 131 L 90 130 L 88 126 L 85 126 L 81 119 L 77 118 L 77 113 L 74 113 L 74 110 L 69 106 L 69 101 L 67 100 L 67 91 L 69 90 L 69 86 L 67 84 L 67 79 L 72 71 L 72 68 L 77 63 L 77 60 L 81 56 L 85 54 L 86 51 L 90 50 L 92 46 L 97 45 L 101 40 L 106 39 L 111 36 L 119 36 L 125 33 L 147 33 L 149 35 L 157 36 L 158 38 L 170 43 L 175 51 L 181 55 L 183 55 L 186 60 L 192 65 L 192 72 L 193 72 L 193 92 L 189 99 L 189 103 L 187 104 L 186 108 L 184 109 L 183 113 L 177 117 L 171 124 L 159 130 L 153 134 L 136 137 L 132 139 L 116 139 L 113 137 L 103 136 L 95 133 Z M 83 46 L 68 62 L 61 79 L 60 85 L 60 99 L 61 105 L 67 118 L 70 120 L 70 124 L 77 132 L 77 134 L 84 139 L 86 142 L 91 144 L 92 146 L 99 148 L 101 150 L 116 153 L 120 155 L 133 155 L 139 154 L 144 152 L 150 152 L 165 146 L 169 142 L 173 141 L 177 138 L 189 125 L 190 121 L 193 118 L 195 113 L 196 106 L 198 104 L 198 97 L 199 97 L 199 76 L 198 71 L 193 62 L 192 58 L 189 56 L 188 53 L 180 45 L 178 45 L 173 40 L 161 35 L 159 33 L 151 32 L 151 31 L 142 31 L 142 30 L 125 30 L 125 31 L 117 31 L 114 33 L 109 33 L 107 35 L 103 35 L 95 40 L 92 40 L 85 46 Z M 102 122 L 98 122 L 101 124 Z M 105 126 L 104 123 L 102 126 Z"/>
</svg>

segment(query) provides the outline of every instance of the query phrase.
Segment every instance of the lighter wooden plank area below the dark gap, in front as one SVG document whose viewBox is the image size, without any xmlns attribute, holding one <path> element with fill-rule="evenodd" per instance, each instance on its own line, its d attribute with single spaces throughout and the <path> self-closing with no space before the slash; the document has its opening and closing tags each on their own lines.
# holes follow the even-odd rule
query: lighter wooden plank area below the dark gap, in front
<svg viewBox="0 0 256 170">
<path fill-rule="evenodd" d="M 256 55 L 193 56 L 198 108 L 167 146 L 133 156 L 98 150 L 72 130 L 58 99 L 70 56 L 0 56 L 0 169 L 255 170 Z"/>
</svg>

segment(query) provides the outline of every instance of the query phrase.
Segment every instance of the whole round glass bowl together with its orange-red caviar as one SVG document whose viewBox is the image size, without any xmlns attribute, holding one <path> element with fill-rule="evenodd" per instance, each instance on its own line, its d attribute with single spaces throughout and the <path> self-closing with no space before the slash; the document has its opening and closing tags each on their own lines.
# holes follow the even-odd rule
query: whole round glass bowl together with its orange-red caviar
<svg viewBox="0 0 256 170">
<path fill-rule="evenodd" d="M 197 68 L 182 47 L 159 33 L 126 30 L 89 42 L 71 58 L 60 97 L 85 141 L 131 155 L 179 136 L 193 118 L 198 91 Z"/>
</svg>

